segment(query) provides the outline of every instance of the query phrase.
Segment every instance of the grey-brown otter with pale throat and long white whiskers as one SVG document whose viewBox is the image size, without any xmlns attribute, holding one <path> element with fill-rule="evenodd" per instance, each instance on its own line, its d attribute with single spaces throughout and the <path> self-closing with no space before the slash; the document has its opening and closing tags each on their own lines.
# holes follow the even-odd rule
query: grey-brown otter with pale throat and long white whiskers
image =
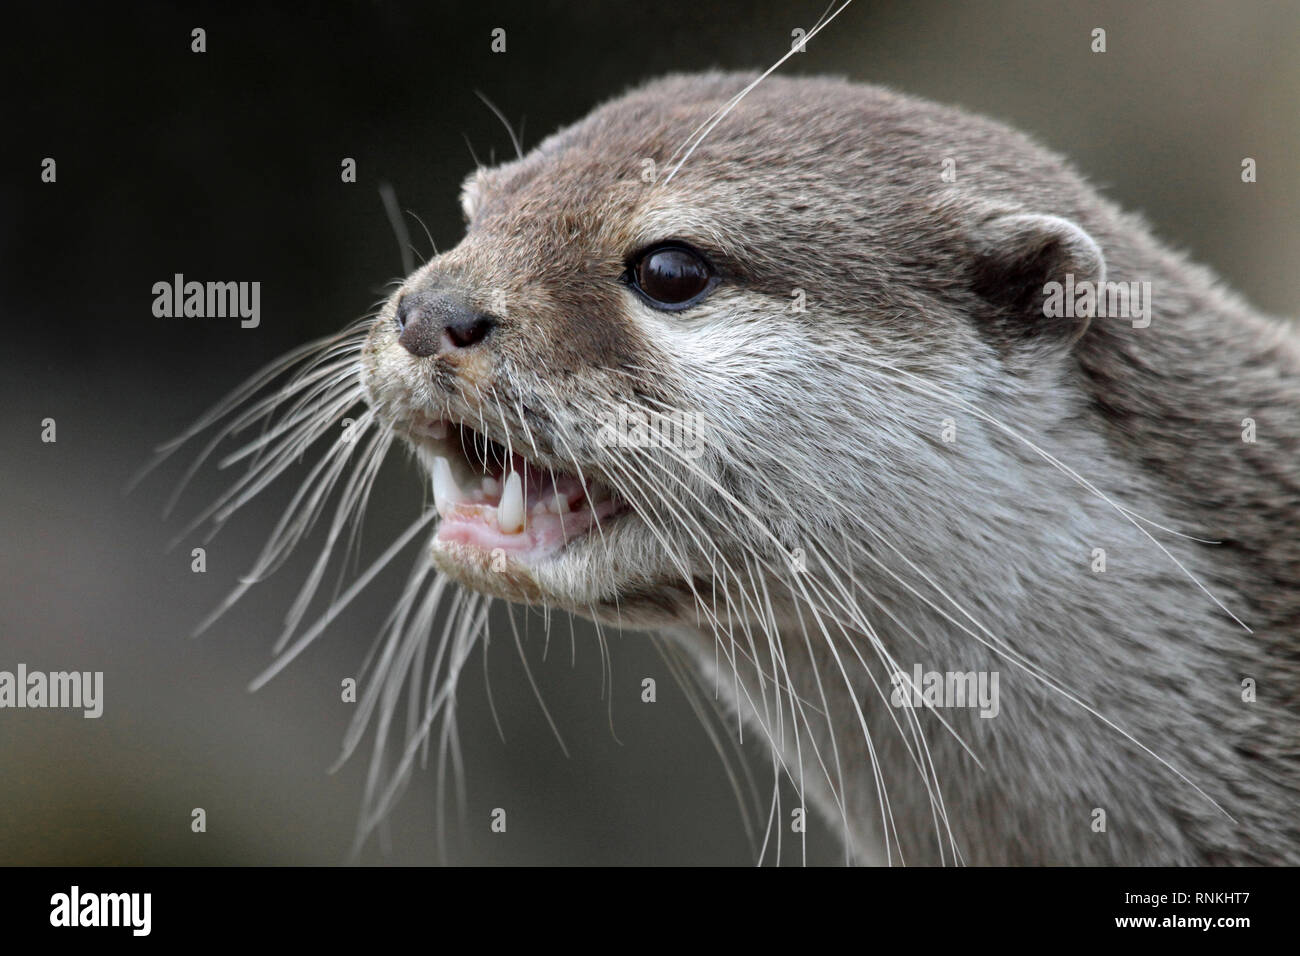
<svg viewBox="0 0 1300 956">
<path fill-rule="evenodd" d="M 280 415 L 224 518 L 364 408 L 250 581 L 395 444 L 432 492 L 356 585 L 436 522 L 347 744 L 410 687 L 363 830 L 503 600 L 666 635 L 849 862 L 1300 862 L 1294 329 L 1020 133 L 753 79 L 478 168 L 459 245 L 220 410 Z"/>
</svg>

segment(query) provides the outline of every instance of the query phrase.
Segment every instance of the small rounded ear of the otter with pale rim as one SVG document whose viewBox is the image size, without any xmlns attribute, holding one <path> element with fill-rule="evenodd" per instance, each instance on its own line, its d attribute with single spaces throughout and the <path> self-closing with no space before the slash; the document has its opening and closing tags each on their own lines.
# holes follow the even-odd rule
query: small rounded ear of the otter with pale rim
<svg viewBox="0 0 1300 956">
<path fill-rule="evenodd" d="M 994 215 L 979 224 L 972 246 L 971 287 L 988 306 L 980 324 L 996 345 L 1044 337 L 1074 345 L 1087 332 L 1091 315 L 1075 312 L 1063 295 L 1084 287 L 1080 282 L 1100 287 L 1106 260 L 1078 224 L 1060 216 Z"/>
</svg>

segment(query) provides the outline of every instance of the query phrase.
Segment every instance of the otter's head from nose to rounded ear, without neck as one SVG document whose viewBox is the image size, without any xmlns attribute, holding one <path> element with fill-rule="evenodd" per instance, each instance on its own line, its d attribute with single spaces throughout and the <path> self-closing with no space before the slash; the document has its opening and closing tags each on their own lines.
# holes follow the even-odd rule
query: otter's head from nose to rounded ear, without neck
<svg viewBox="0 0 1300 956">
<path fill-rule="evenodd" d="M 768 79 L 699 138 L 748 79 L 659 81 L 474 172 L 464 238 L 376 319 L 368 398 L 460 583 L 754 617 L 863 519 L 932 541 L 944 418 L 982 365 L 1035 364 L 1015 297 L 1098 267 L 1069 220 L 945 183 L 944 125 L 883 91 Z"/>
</svg>

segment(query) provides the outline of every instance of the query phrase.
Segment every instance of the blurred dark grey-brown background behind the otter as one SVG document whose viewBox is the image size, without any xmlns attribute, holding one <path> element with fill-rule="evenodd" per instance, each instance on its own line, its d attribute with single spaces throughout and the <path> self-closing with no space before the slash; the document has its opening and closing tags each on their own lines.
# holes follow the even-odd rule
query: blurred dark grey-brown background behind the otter
<svg viewBox="0 0 1300 956">
<path fill-rule="evenodd" d="M 530 0 L 5 14 L 0 670 L 104 671 L 105 702 L 98 721 L 0 710 L 0 864 L 347 858 L 368 753 L 328 773 L 354 706 L 339 682 L 356 674 L 399 567 L 250 693 L 309 548 L 202 639 L 188 633 L 251 564 L 294 479 L 208 542 L 207 574 L 190 570 L 198 536 L 165 548 L 230 476 L 202 472 L 169 522 L 161 503 L 182 463 L 129 497 L 125 483 L 263 364 L 370 310 L 402 263 L 381 182 L 439 248 L 458 241 L 467 140 L 485 161 L 512 152 L 476 90 L 523 124 L 528 148 L 645 78 L 766 68 L 823 9 Z M 207 30 L 203 55 L 190 52 L 194 27 Z M 504 53 L 490 49 L 495 27 Z M 1089 51 L 1095 27 L 1102 55 Z M 783 70 L 840 73 L 1032 133 L 1257 307 L 1300 312 L 1300 4 L 855 0 Z M 55 185 L 40 182 L 47 156 Z M 355 185 L 339 181 L 346 156 Z M 1254 185 L 1240 181 L 1244 156 L 1257 160 Z M 260 281 L 260 328 L 156 319 L 151 287 L 178 272 Z M 47 418 L 55 444 L 40 441 Z M 422 492 L 394 455 L 367 561 Z M 612 636 L 602 700 L 590 631 L 578 627 L 573 661 L 566 624 L 545 658 L 533 631 L 525 653 L 566 757 L 500 627 L 462 683 L 464 817 L 437 832 L 434 774 L 417 771 L 387 845 L 368 845 L 365 862 L 436 862 L 439 845 L 455 864 L 754 861 L 708 732 L 644 637 Z M 640 701 L 645 676 L 658 682 L 654 705 Z M 767 760 L 745 754 L 766 801 Z M 196 806 L 204 834 L 190 829 Z M 497 806 L 506 834 L 489 830 Z M 810 862 L 838 858 L 818 821 L 807 847 Z M 788 840 L 784 858 L 798 860 Z"/>
</svg>

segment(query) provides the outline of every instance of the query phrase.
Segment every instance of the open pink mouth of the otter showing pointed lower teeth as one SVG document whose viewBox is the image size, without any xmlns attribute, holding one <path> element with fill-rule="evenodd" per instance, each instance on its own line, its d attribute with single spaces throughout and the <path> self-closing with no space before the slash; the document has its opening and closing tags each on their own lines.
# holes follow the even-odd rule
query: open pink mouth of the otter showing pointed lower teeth
<svg viewBox="0 0 1300 956">
<path fill-rule="evenodd" d="M 499 548 L 532 563 L 629 510 L 601 483 L 508 451 L 468 425 L 424 419 L 408 429 L 433 477 L 437 541 Z"/>
</svg>

